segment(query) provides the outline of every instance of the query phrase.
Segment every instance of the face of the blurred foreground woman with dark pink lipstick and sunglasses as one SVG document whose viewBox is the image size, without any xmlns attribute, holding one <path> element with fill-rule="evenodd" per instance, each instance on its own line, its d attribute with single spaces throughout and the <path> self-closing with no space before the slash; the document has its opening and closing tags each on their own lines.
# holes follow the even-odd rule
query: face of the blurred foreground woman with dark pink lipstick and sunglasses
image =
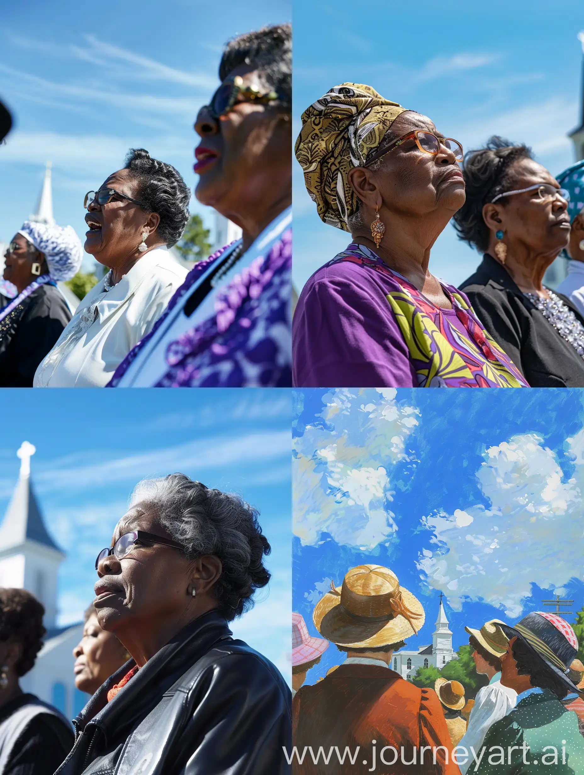
<svg viewBox="0 0 584 775">
<path fill-rule="evenodd" d="M 251 86 L 262 94 L 270 91 L 261 74 L 250 65 L 236 67 L 225 82 L 233 82 L 238 75 L 244 88 Z M 290 122 L 278 119 L 278 110 L 269 105 L 237 102 L 218 119 L 202 108 L 195 121 L 195 132 L 201 137 L 193 167 L 200 176 L 195 195 L 199 202 L 216 207 L 219 212 L 238 198 L 247 201 L 242 192 L 254 181 L 257 192 L 261 191 L 262 176 L 273 174 L 275 167 L 281 167 L 282 159 L 292 164 Z"/>
</svg>

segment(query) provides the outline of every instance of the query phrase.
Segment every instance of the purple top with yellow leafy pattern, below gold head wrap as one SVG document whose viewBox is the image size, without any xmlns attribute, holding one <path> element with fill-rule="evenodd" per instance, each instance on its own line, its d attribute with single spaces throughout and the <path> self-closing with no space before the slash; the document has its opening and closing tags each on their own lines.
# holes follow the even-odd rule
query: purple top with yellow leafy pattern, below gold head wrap
<svg viewBox="0 0 584 775">
<path fill-rule="evenodd" d="M 352 243 L 300 294 L 296 387 L 529 387 L 465 294 L 434 306 L 376 253 Z"/>
</svg>

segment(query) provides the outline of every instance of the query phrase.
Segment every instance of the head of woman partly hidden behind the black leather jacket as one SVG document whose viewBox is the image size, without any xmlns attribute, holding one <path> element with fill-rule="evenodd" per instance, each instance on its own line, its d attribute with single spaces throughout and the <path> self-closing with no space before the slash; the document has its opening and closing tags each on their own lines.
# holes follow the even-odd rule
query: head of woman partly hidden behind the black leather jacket
<svg viewBox="0 0 584 775">
<path fill-rule="evenodd" d="M 73 649 L 75 686 L 95 694 L 116 670 L 130 659 L 130 654 L 112 632 L 99 626 L 97 610 L 90 605 L 85 611 L 83 637 Z"/>
</svg>

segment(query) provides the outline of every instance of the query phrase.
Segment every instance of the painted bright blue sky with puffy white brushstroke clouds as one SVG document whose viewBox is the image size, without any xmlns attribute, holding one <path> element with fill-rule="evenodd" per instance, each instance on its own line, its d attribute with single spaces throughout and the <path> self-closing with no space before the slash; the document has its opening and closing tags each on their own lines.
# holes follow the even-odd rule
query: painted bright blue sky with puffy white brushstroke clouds
<svg viewBox="0 0 584 775">
<path fill-rule="evenodd" d="M 432 642 L 441 591 L 454 649 L 556 593 L 584 607 L 582 391 L 294 392 L 292 607 L 312 635 L 361 563 L 422 602 L 409 649 Z M 343 659 L 330 646 L 309 683 Z"/>
</svg>

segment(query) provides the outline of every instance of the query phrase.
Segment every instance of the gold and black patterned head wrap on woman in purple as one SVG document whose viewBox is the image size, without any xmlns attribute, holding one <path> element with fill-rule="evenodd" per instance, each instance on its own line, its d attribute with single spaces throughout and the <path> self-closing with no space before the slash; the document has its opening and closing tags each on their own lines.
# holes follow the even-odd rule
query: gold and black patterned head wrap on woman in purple
<svg viewBox="0 0 584 775">
<path fill-rule="evenodd" d="M 309 195 L 325 223 L 349 231 L 358 210 L 348 173 L 367 161 L 389 127 L 406 108 L 390 102 L 371 86 L 340 84 L 302 113 L 295 154 Z"/>
</svg>

